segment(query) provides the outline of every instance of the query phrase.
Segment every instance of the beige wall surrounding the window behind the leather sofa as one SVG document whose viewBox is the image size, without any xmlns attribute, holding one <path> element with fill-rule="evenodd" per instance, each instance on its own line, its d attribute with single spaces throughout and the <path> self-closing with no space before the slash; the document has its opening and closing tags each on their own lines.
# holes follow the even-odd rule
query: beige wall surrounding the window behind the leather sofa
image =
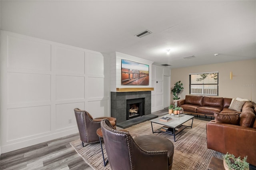
<svg viewBox="0 0 256 170">
<path fill-rule="evenodd" d="M 252 101 L 256 102 L 256 59 L 172 69 L 171 87 L 177 81 L 181 81 L 184 89 L 180 97 L 184 99 L 189 95 L 189 74 L 211 71 L 219 72 L 220 97 L 240 97 L 249 100 L 252 97 Z M 232 80 L 230 80 L 230 71 L 234 75 Z"/>
</svg>

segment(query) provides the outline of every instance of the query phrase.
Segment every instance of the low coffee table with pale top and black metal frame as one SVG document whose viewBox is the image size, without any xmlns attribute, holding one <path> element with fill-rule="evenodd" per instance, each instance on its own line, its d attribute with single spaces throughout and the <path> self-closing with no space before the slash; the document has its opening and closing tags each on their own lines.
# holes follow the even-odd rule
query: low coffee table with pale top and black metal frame
<svg viewBox="0 0 256 170">
<path fill-rule="evenodd" d="M 175 117 L 175 116 L 172 116 L 172 115 L 164 115 L 166 117 L 171 117 L 172 120 L 168 121 L 168 122 L 164 122 L 164 121 L 160 121 L 159 119 L 161 117 L 158 117 L 158 118 L 155 118 L 155 119 L 152 119 L 150 120 L 151 122 L 151 127 L 152 127 L 152 133 L 157 133 L 157 132 L 164 132 L 164 133 L 167 133 L 167 134 L 170 134 L 172 136 L 174 136 L 174 142 L 176 142 L 176 139 L 175 139 L 175 136 L 177 134 L 179 134 L 180 132 L 182 132 L 182 130 L 184 130 L 185 128 L 187 127 L 190 127 L 192 128 L 192 125 L 193 125 L 193 120 L 194 120 L 194 116 L 191 116 L 191 115 L 180 115 L 180 117 Z M 164 117 L 162 116 L 162 117 Z M 185 125 L 182 125 L 183 123 L 189 121 L 189 120 L 192 120 L 192 123 L 191 123 L 191 126 L 185 126 Z M 160 124 L 160 125 L 164 125 L 163 127 L 166 129 L 168 128 L 168 130 L 165 130 L 163 127 L 162 128 L 158 128 L 157 130 L 153 130 L 153 126 L 152 126 L 152 123 L 157 123 L 157 124 Z M 177 127 L 179 127 L 180 125 L 182 125 L 179 129 L 177 129 Z"/>
</svg>

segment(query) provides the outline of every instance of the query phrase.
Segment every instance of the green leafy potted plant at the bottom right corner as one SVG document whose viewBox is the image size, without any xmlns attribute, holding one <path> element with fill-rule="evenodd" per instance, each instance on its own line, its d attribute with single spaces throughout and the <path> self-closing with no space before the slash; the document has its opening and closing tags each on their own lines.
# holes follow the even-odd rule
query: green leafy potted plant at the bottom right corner
<svg viewBox="0 0 256 170">
<path fill-rule="evenodd" d="M 249 163 L 246 162 L 247 156 L 241 160 L 240 156 L 236 158 L 233 154 L 227 152 L 223 158 L 225 170 L 249 170 Z"/>
</svg>

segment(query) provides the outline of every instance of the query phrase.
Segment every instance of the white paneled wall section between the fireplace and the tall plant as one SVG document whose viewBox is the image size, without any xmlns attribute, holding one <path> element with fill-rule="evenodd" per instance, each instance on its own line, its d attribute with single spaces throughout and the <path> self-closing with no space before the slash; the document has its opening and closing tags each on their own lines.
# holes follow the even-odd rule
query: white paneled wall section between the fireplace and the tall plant
<svg viewBox="0 0 256 170">
<path fill-rule="evenodd" d="M 166 97 L 166 94 L 169 93 L 164 91 L 164 83 L 165 85 L 168 84 L 170 86 L 170 81 L 164 82 L 164 76 L 170 77 L 170 69 L 152 65 L 152 87 L 154 87 L 154 91 L 151 93 L 151 111 L 159 111 L 166 107 L 164 103 L 170 103 L 170 97 Z M 164 100 L 169 100 L 168 102 Z"/>
</svg>

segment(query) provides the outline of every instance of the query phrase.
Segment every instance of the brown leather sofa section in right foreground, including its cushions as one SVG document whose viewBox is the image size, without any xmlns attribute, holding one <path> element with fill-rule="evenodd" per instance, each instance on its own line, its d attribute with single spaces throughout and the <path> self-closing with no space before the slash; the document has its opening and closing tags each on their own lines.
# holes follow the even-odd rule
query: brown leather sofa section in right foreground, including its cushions
<svg viewBox="0 0 256 170">
<path fill-rule="evenodd" d="M 215 120 L 206 124 L 207 148 L 241 158 L 248 156 L 247 162 L 256 166 L 256 104 L 247 101 L 241 113 L 214 115 Z"/>
</svg>

